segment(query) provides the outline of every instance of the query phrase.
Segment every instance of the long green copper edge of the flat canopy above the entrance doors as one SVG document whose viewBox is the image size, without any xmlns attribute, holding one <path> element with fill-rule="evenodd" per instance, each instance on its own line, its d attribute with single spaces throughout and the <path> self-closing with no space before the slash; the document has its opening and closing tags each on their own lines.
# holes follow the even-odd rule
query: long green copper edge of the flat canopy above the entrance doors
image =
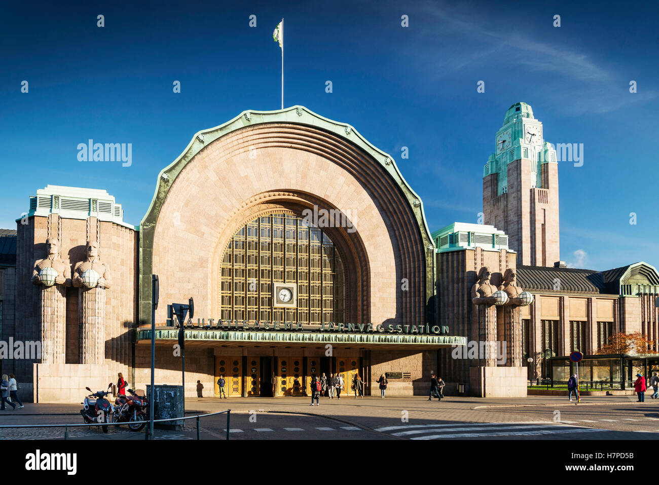
<svg viewBox="0 0 659 485">
<path fill-rule="evenodd" d="M 179 331 L 156 329 L 156 340 L 177 341 Z M 137 340 L 151 340 L 151 329 L 137 331 Z M 350 343 L 387 345 L 467 345 L 467 337 L 381 333 L 310 333 L 279 331 L 185 330 L 186 341 L 245 343 Z"/>
</svg>

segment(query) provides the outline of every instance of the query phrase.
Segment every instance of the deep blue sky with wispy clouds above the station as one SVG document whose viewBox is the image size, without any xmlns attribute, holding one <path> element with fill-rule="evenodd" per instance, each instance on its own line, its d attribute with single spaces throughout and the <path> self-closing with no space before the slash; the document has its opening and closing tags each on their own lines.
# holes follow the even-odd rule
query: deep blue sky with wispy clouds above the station
<svg viewBox="0 0 659 485">
<path fill-rule="evenodd" d="M 584 144 L 583 167 L 559 164 L 561 259 L 596 270 L 639 260 L 659 266 L 656 2 L 118 1 L 3 9 L 0 227 L 15 227 L 28 197 L 47 184 L 103 188 L 138 224 L 158 172 L 195 132 L 244 109 L 279 109 L 272 30 L 283 17 L 284 104 L 350 123 L 391 154 L 422 198 L 431 231 L 476 222 L 496 130 L 507 107 L 525 101 L 547 141 Z M 132 165 L 78 161 L 76 146 L 89 138 L 132 143 Z M 401 159 L 403 146 L 409 159 Z"/>
</svg>

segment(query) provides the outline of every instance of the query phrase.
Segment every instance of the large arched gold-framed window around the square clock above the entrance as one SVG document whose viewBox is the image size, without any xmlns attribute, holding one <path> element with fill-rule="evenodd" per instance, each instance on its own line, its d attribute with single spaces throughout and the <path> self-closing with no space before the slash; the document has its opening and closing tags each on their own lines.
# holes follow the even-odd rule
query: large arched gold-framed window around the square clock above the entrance
<svg viewBox="0 0 659 485">
<path fill-rule="evenodd" d="M 224 252 L 222 320 L 345 323 L 345 268 L 322 229 L 281 212 L 247 223 Z M 273 306 L 273 283 L 297 283 L 297 308 Z"/>
</svg>

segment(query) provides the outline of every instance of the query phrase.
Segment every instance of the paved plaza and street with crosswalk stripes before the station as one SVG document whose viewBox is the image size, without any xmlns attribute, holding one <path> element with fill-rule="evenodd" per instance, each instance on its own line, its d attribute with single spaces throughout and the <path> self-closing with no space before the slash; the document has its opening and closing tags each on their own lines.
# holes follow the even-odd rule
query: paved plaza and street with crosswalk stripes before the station
<svg viewBox="0 0 659 485">
<path fill-rule="evenodd" d="M 78 405 L 32 404 L 0 412 L 0 425 L 80 424 Z M 186 416 L 231 409 L 231 440 L 656 440 L 659 401 L 635 396 L 531 396 L 520 399 L 447 397 L 201 398 L 186 400 Z M 225 440 L 226 414 L 200 420 L 202 440 Z M 62 440 L 64 428 L 3 428 L 0 439 Z M 70 440 L 144 440 L 143 432 L 113 426 L 69 428 Z M 156 440 L 196 440 L 186 428 L 156 430 Z"/>
</svg>

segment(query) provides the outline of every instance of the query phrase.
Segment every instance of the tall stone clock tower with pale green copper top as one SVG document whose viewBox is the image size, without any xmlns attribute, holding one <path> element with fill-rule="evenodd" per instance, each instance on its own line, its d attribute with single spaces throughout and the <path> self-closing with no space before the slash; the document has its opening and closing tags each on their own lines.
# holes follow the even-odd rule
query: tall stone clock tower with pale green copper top
<svg viewBox="0 0 659 485">
<path fill-rule="evenodd" d="M 542 123 L 527 103 L 515 103 L 496 133 L 483 171 L 484 223 L 503 230 L 517 264 L 559 261 L 558 164 Z"/>
</svg>

